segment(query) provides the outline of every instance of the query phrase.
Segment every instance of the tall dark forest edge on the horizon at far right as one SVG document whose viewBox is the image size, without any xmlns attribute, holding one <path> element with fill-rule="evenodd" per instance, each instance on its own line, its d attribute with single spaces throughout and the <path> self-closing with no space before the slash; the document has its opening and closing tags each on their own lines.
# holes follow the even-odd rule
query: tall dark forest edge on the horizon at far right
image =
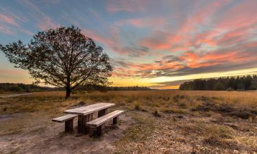
<svg viewBox="0 0 257 154">
<path fill-rule="evenodd" d="M 257 90 L 257 75 L 195 79 L 181 84 L 180 90 Z"/>
</svg>

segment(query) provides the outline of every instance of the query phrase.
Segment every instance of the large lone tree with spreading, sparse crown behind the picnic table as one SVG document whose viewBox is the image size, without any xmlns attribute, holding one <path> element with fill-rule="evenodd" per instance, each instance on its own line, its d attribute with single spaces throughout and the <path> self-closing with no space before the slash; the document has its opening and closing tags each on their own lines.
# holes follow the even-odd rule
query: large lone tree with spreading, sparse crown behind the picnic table
<svg viewBox="0 0 257 154">
<path fill-rule="evenodd" d="M 19 40 L 0 44 L 0 49 L 16 67 L 29 70 L 37 83 L 66 88 L 66 99 L 77 86 L 109 84 L 108 55 L 73 26 L 40 31 L 28 44 Z"/>
</svg>

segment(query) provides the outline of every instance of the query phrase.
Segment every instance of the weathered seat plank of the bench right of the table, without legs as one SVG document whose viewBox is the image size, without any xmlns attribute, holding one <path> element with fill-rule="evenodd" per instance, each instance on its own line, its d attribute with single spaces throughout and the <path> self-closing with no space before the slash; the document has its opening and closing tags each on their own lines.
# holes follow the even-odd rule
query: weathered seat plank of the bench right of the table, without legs
<svg viewBox="0 0 257 154">
<path fill-rule="evenodd" d="M 110 114 L 106 114 L 105 116 L 101 116 L 95 120 L 89 121 L 86 123 L 86 125 L 93 125 L 95 127 L 98 127 L 99 125 L 102 125 L 103 123 L 106 123 L 107 120 L 110 120 L 111 118 L 114 118 L 116 116 L 119 116 L 124 111 L 116 110 L 114 112 L 111 112 Z"/>
</svg>

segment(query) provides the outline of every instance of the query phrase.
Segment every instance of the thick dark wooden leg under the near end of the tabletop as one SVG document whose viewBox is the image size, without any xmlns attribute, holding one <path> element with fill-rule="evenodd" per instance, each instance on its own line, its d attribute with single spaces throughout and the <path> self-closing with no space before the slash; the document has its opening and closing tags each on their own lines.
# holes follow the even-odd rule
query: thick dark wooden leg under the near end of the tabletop
<svg viewBox="0 0 257 154">
<path fill-rule="evenodd" d="M 90 120 L 93 120 L 93 114 L 86 116 L 79 115 L 77 120 L 77 133 L 87 134 L 90 127 L 86 126 L 86 123 Z"/>
</svg>

